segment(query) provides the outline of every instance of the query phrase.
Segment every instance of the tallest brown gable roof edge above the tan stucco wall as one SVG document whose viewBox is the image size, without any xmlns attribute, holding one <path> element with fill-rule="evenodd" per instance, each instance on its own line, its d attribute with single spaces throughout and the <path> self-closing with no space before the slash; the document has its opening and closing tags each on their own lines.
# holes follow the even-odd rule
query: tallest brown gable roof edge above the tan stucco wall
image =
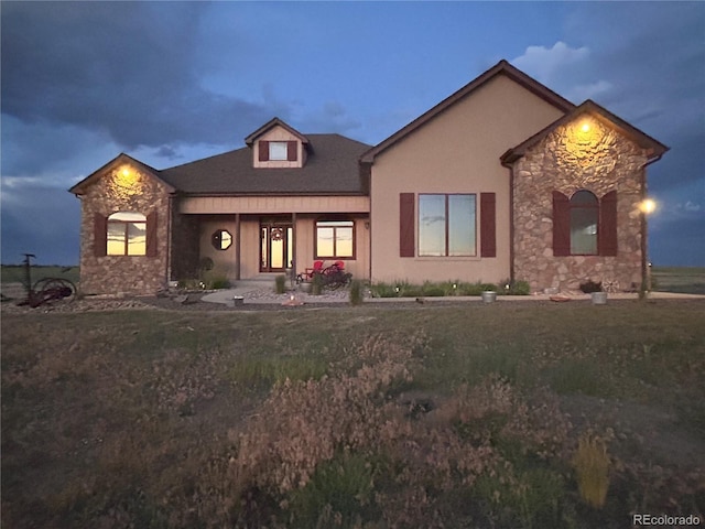
<svg viewBox="0 0 705 529">
<path fill-rule="evenodd" d="M 573 105 L 571 101 L 560 96 L 555 91 L 551 90 L 546 86 L 542 85 L 538 80 L 533 79 L 532 77 L 529 77 L 527 74 L 524 74 L 520 69 L 509 64 L 507 61 L 502 60 L 499 63 L 497 63 L 495 66 L 489 68 L 487 72 L 485 72 L 484 74 L 480 74 L 474 80 L 471 80 L 470 83 L 465 85 L 463 88 L 457 90 L 455 94 L 451 95 L 449 97 L 441 101 L 431 110 L 421 115 L 419 118 L 413 120 L 403 129 L 399 130 L 398 132 L 394 132 L 392 136 L 383 140 L 381 143 L 377 144 L 376 147 L 367 151 L 362 155 L 360 161 L 364 163 L 372 163 L 375 161 L 375 156 L 377 156 L 379 153 L 389 149 L 391 145 L 393 145 L 398 141 L 402 140 L 403 138 L 405 138 L 406 136 L 409 136 L 410 133 L 419 129 L 420 127 L 424 126 L 426 122 L 431 121 L 441 112 L 445 111 L 448 107 L 455 105 L 458 100 L 465 98 L 466 96 L 468 96 L 469 94 L 475 91 L 477 88 L 485 85 L 487 82 L 489 82 L 490 79 L 492 79 L 498 75 L 505 75 L 509 77 L 510 79 L 514 80 L 519 85 L 527 88 L 529 91 L 533 93 L 534 95 L 539 96 L 546 102 L 553 105 L 554 107 L 556 107 L 557 109 L 564 112 L 567 112 L 573 108 L 575 108 L 575 105 Z"/>
</svg>

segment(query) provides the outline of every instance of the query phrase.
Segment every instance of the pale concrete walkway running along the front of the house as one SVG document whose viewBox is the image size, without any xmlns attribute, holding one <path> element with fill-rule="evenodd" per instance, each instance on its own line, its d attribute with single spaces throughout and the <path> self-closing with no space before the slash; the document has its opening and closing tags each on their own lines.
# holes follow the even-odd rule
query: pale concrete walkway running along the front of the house
<svg viewBox="0 0 705 529">
<path fill-rule="evenodd" d="M 286 285 L 288 289 L 290 284 Z M 235 298 L 242 304 L 312 304 L 312 303 L 347 303 L 349 300 L 349 291 L 347 289 L 324 291 L 322 295 L 311 295 L 306 293 L 307 284 L 294 285 L 292 290 L 285 294 L 276 294 L 274 292 L 274 281 L 272 280 L 242 280 L 238 281 L 236 287 L 228 290 L 218 290 L 202 298 L 202 301 L 209 303 L 221 303 L 235 306 Z M 293 295 L 293 299 L 292 299 Z M 588 294 L 570 294 L 571 301 L 589 301 Z M 550 301 L 549 294 L 536 293 L 530 295 L 498 295 L 497 301 Z M 638 300 L 636 293 L 618 293 L 609 294 L 609 300 Z M 698 294 L 680 294 L 672 292 L 651 292 L 650 300 L 705 300 L 705 295 Z M 416 298 L 366 298 L 365 303 L 400 303 L 416 302 Z M 479 296 L 444 296 L 444 298 L 423 298 L 424 303 L 440 303 L 449 301 L 462 301 L 469 303 L 481 303 Z"/>
</svg>

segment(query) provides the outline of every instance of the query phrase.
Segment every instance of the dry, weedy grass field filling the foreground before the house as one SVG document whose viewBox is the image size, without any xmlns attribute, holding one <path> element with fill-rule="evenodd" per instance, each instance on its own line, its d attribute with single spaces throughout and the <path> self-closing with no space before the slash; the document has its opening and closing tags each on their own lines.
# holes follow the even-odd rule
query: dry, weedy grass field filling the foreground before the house
<svg viewBox="0 0 705 529">
<path fill-rule="evenodd" d="M 672 458 L 680 442 L 705 449 L 703 309 L 7 313 L 2 526 L 611 528 L 637 508 L 703 512 L 699 457 L 687 472 Z M 404 395 L 431 404 L 408 417 Z M 600 402 L 623 411 L 607 420 Z M 586 429 L 619 457 L 601 508 L 572 466 Z"/>
</svg>

